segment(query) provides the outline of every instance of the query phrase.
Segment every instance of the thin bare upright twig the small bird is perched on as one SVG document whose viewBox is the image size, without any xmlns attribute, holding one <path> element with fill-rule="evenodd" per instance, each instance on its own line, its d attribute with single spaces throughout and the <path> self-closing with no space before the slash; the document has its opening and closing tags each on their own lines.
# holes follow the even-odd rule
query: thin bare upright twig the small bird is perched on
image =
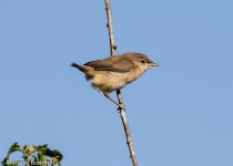
<svg viewBox="0 0 233 166">
<path fill-rule="evenodd" d="M 110 0 L 104 0 L 105 1 L 105 10 L 107 10 L 107 18 L 108 18 L 108 29 L 109 29 L 109 40 L 110 40 L 110 51 L 111 51 L 111 55 L 115 54 L 115 50 L 116 50 L 116 45 L 114 43 L 114 38 L 113 38 L 113 24 L 112 24 L 112 12 L 111 12 L 111 4 L 110 4 Z M 119 104 L 123 104 L 123 100 L 122 100 L 122 95 L 121 95 L 121 91 L 118 90 L 116 91 L 116 96 L 118 96 L 118 102 Z M 121 115 L 121 120 L 124 126 L 124 133 L 126 136 L 126 144 L 130 151 L 130 158 L 132 159 L 132 164 L 133 166 L 138 166 L 138 160 L 135 158 L 135 153 L 133 149 L 133 143 L 132 143 L 132 138 L 131 138 L 131 133 L 130 133 L 130 126 L 128 124 L 126 121 L 126 115 L 125 115 L 125 110 L 120 107 L 120 115 Z"/>
</svg>

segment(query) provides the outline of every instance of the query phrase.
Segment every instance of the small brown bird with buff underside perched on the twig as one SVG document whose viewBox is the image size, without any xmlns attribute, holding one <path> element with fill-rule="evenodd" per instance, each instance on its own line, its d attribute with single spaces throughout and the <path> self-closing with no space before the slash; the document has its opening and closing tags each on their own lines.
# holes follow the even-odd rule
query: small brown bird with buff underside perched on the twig
<svg viewBox="0 0 233 166">
<path fill-rule="evenodd" d="M 92 86 L 120 107 L 123 105 L 112 100 L 109 94 L 135 81 L 151 66 L 159 66 L 142 53 L 123 53 L 104 60 L 88 62 L 83 65 L 71 63 L 91 81 Z"/>
</svg>

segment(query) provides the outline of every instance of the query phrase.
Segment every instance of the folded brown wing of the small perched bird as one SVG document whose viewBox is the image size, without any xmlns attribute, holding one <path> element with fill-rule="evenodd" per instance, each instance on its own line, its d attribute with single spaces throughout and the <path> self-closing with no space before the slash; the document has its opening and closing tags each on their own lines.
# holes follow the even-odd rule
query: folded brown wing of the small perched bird
<svg viewBox="0 0 233 166">
<path fill-rule="evenodd" d="M 92 66 L 95 71 L 110 71 L 125 73 L 134 69 L 133 63 L 129 59 L 119 59 L 118 56 L 105 60 L 97 60 L 85 63 L 84 65 Z"/>
</svg>

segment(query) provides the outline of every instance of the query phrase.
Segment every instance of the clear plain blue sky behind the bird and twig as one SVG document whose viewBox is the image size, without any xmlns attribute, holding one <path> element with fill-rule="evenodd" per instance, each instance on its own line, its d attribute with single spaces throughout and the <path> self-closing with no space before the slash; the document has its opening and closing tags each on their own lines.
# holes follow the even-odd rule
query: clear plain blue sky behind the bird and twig
<svg viewBox="0 0 233 166">
<path fill-rule="evenodd" d="M 161 64 L 122 90 L 141 166 L 233 165 L 232 6 L 112 0 L 116 53 Z M 104 2 L 2 0 L 0 20 L 0 158 L 47 143 L 64 166 L 131 165 L 115 105 L 70 68 L 109 56 Z"/>
</svg>

